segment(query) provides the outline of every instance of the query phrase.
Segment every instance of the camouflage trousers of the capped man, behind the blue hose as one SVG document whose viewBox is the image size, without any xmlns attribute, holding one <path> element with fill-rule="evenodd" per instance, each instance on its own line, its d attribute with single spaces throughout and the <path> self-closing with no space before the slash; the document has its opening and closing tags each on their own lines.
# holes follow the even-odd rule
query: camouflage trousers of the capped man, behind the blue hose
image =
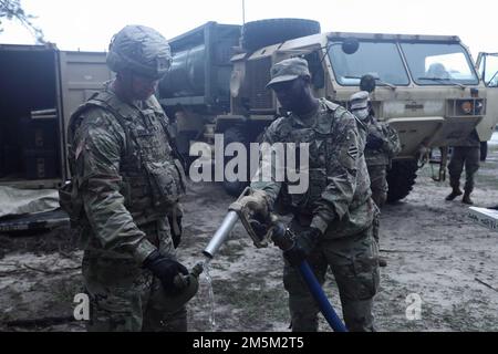
<svg viewBox="0 0 498 354">
<path fill-rule="evenodd" d="M 299 233 L 300 227 L 292 222 Z M 354 236 L 321 241 L 308 258 L 320 284 L 325 281 L 330 267 L 335 278 L 344 322 L 349 331 L 374 331 L 373 298 L 380 283 L 378 248 L 372 227 Z M 287 261 L 283 285 L 289 292 L 292 331 L 318 331 L 319 308 L 299 271 Z"/>
</svg>

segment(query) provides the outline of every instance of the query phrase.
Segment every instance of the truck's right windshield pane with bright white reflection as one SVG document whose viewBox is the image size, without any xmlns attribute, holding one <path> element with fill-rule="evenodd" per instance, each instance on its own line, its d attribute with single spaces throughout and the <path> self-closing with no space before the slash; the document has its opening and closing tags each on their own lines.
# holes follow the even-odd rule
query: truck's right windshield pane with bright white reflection
<svg viewBox="0 0 498 354">
<path fill-rule="evenodd" d="M 470 58 L 458 43 L 401 43 L 418 85 L 476 85 Z"/>
</svg>

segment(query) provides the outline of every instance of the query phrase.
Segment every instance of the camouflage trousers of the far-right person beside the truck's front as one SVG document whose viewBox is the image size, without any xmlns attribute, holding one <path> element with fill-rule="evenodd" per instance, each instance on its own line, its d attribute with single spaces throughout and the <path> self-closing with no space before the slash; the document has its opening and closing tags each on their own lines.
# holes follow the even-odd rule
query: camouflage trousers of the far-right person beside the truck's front
<svg viewBox="0 0 498 354">
<path fill-rule="evenodd" d="M 452 159 L 448 165 L 449 185 L 453 188 L 460 186 L 460 176 L 465 166 L 465 191 L 474 190 L 474 176 L 479 169 L 480 147 L 457 146 L 453 148 Z"/>
</svg>

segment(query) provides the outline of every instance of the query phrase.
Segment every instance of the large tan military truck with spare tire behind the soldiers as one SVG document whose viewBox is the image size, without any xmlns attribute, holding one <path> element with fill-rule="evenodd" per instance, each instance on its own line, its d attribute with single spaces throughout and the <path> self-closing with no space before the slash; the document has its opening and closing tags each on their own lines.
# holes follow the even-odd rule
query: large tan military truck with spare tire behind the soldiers
<svg viewBox="0 0 498 354">
<path fill-rule="evenodd" d="M 208 22 L 170 43 L 174 61 L 159 98 L 176 119 L 184 153 L 215 133 L 225 134 L 225 144 L 256 142 L 279 112 L 266 88 L 270 67 L 290 56 L 308 60 L 317 96 L 346 107 L 361 77 L 375 79 L 373 107 L 403 147 L 388 171 L 388 201 L 409 194 L 432 149 L 446 152 L 476 126 L 487 140 L 497 123 L 471 55 L 454 35 L 321 33 L 312 20 L 270 19 L 243 27 Z M 246 183 L 224 185 L 237 195 Z"/>
</svg>

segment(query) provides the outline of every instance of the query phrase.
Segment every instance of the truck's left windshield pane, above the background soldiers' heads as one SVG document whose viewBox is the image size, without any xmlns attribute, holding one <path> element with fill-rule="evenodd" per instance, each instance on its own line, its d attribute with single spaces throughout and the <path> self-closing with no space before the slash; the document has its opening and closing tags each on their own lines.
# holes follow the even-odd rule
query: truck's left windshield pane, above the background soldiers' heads
<svg viewBox="0 0 498 354">
<path fill-rule="evenodd" d="M 360 41 L 357 51 L 346 54 L 341 41 L 329 42 L 329 56 L 339 84 L 357 86 L 360 77 L 371 74 L 377 84 L 408 85 L 409 80 L 395 43 Z"/>
</svg>

